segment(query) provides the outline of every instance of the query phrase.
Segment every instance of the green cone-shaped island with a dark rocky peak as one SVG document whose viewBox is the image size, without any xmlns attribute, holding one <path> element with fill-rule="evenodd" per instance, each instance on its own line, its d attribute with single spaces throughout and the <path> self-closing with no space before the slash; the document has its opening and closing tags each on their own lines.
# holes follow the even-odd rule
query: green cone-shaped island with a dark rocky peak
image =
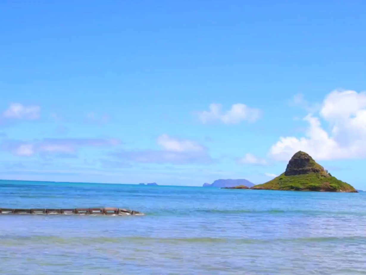
<svg viewBox="0 0 366 275">
<path fill-rule="evenodd" d="M 310 155 L 302 151 L 292 156 L 284 173 L 250 189 L 357 192 L 350 184 L 330 175 L 323 166 L 317 164 Z"/>
</svg>

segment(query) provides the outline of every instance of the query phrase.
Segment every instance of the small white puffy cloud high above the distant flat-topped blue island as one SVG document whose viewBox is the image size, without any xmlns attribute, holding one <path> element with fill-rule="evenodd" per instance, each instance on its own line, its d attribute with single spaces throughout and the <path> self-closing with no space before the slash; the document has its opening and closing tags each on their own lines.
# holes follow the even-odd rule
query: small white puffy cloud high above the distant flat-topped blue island
<svg viewBox="0 0 366 275">
<path fill-rule="evenodd" d="M 241 121 L 254 122 L 261 116 L 261 110 L 251 108 L 242 103 L 233 104 L 231 109 L 223 111 L 221 104 L 212 103 L 209 111 L 197 113 L 202 123 L 221 121 L 225 124 L 239 124 Z"/>
</svg>

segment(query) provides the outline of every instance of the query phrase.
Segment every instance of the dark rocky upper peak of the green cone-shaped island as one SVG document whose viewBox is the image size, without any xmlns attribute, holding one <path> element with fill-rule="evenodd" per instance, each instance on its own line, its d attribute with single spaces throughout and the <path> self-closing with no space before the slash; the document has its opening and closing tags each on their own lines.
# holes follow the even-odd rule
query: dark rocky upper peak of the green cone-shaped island
<svg viewBox="0 0 366 275">
<path fill-rule="evenodd" d="M 323 177 L 329 177 L 323 166 L 317 164 L 309 154 L 298 151 L 287 164 L 285 176 L 306 175 L 319 173 Z"/>
</svg>

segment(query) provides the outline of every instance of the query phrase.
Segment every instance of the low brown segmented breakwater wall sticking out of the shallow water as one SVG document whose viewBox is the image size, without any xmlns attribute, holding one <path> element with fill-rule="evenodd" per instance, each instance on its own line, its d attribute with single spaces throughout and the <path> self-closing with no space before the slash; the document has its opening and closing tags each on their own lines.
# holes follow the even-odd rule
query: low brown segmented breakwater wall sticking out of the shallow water
<svg viewBox="0 0 366 275">
<path fill-rule="evenodd" d="M 12 209 L 0 208 L 0 214 L 63 214 L 63 215 L 114 215 L 114 216 L 143 216 L 135 210 L 125 208 L 74 208 L 74 209 L 49 209 L 49 208 L 32 208 L 32 209 Z"/>
</svg>

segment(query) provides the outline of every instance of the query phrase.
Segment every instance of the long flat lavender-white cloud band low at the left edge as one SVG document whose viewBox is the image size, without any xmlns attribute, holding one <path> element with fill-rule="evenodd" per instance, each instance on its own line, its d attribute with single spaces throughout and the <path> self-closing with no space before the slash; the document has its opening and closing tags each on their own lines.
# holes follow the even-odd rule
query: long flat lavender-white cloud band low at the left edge
<svg viewBox="0 0 366 275">
<path fill-rule="evenodd" d="M 0 143 L 0 150 L 23 157 L 36 154 L 72 156 L 82 147 L 109 147 L 121 143 L 119 139 L 46 138 L 32 142 L 8 139 Z"/>
</svg>

